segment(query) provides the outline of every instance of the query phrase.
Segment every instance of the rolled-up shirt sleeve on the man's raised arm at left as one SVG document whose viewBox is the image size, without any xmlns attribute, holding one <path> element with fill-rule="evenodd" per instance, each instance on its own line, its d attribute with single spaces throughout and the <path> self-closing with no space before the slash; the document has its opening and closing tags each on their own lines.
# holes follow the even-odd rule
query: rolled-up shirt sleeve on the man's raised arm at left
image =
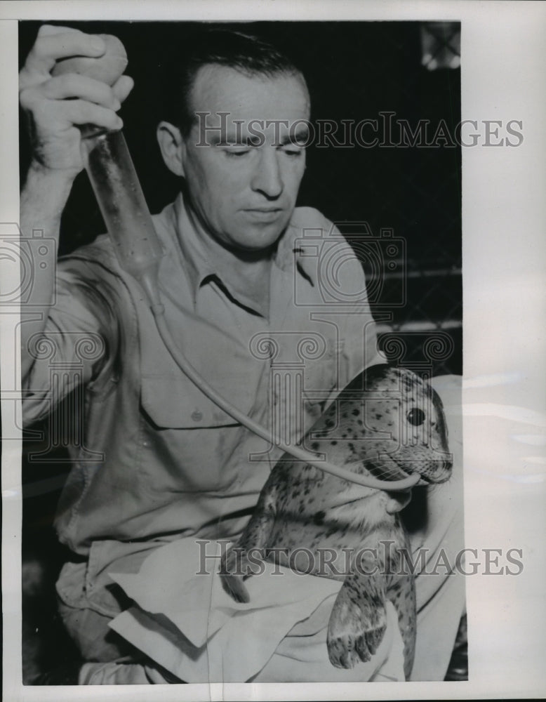
<svg viewBox="0 0 546 702">
<path fill-rule="evenodd" d="M 118 336 L 114 285 L 113 277 L 98 265 L 59 261 L 55 302 L 46 326 L 29 340 L 33 362 L 22 380 L 25 425 L 44 418 L 74 388 L 97 378 L 112 357 Z"/>
</svg>

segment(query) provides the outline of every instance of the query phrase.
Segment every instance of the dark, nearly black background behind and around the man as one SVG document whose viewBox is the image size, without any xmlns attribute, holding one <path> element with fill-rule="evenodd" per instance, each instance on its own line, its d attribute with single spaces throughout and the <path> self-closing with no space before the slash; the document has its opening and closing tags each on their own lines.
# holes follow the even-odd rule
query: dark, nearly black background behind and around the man
<svg viewBox="0 0 546 702">
<path fill-rule="evenodd" d="M 42 22 L 20 22 L 20 62 L 34 43 Z M 53 22 L 61 24 L 60 22 Z M 65 24 L 65 23 L 62 23 Z M 115 34 L 126 47 L 127 73 L 135 88 L 121 110 L 124 133 L 145 197 L 152 212 L 161 210 L 178 193 L 178 180 L 161 161 L 155 138 L 164 117 L 159 76 L 177 45 L 194 32 L 189 22 L 67 22 L 86 32 Z M 396 112 L 415 126 L 441 119 L 453 134 L 460 121 L 460 70 L 429 71 L 422 66 L 419 22 L 248 22 L 232 26 L 271 39 L 305 74 L 314 119 L 379 119 L 379 112 Z M 369 132 L 368 132 L 369 133 Z M 29 161 L 29 145 L 20 130 L 21 176 Z M 378 237 L 382 227 L 406 242 L 403 262 L 406 303 L 399 301 L 401 280 L 381 272 L 381 292 L 373 307 L 391 319 L 380 326 L 381 343 L 393 348 L 392 359 L 419 370 L 427 340 L 443 335 L 446 348 L 432 359 L 432 372 L 462 373 L 462 287 L 460 148 L 309 147 L 307 171 L 298 204 L 318 208 L 351 235 L 359 253 L 362 227 L 367 222 Z M 74 183 L 62 218 L 61 253 L 91 241 L 105 231 L 85 174 Z M 364 257 L 365 258 L 365 257 Z M 362 259 L 366 268 L 367 262 Z M 399 270 L 403 270 L 400 268 Z M 415 325 L 420 326 L 415 326 Z M 408 326 L 409 325 L 409 326 Z M 415 331 L 420 329 L 421 331 Z M 446 338 L 447 335 L 447 338 Z M 406 351 L 389 340 L 401 339 Z M 427 371 L 428 372 L 428 371 Z M 50 587 L 42 599 L 27 598 L 26 640 L 32 645 L 44 630 L 57 631 L 53 587 L 64 558 L 56 545 L 51 522 L 55 503 L 69 465 L 62 441 L 51 446 L 50 426 L 34 428 L 41 440 L 27 440 L 23 456 L 23 559 L 37 563 Z M 27 439 L 31 437 L 27 434 Z M 48 450 L 47 460 L 32 454 Z M 36 630 L 36 631 L 34 631 Z M 44 665 L 70 656 L 57 631 L 54 649 L 41 653 Z M 29 654 L 30 655 L 30 654 Z M 51 661 L 49 661 L 49 658 Z M 48 662 L 49 661 L 49 662 Z"/>
</svg>

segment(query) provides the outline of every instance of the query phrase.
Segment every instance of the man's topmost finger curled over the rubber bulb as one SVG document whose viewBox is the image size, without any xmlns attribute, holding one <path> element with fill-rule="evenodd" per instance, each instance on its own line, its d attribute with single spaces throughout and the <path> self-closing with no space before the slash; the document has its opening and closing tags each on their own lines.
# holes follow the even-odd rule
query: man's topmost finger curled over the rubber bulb
<svg viewBox="0 0 546 702">
<path fill-rule="evenodd" d="M 54 34 L 38 33 L 34 46 L 27 56 L 25 69 L 30 74 L 49 74 L 55 61 L 67 56 L 102 56 L 106 51 L 105 42 L 93 34 L 85 34 L 79 29 L 69 29 Z"/>
</svg>

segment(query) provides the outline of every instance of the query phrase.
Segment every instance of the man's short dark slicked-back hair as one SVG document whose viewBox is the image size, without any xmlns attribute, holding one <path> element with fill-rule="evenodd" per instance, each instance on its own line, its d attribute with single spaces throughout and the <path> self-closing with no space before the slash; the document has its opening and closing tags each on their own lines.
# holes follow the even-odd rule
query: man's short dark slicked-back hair
<svg viewBox="0 0 546 702">
<path fill-rule="evenodd" d="M 263 39 L 232 29 L 201 29 L 185 43 L 167 72 L 165 118 L 178 126 L 185 137 L 195 122 L 192 88 L 197 73 L 211 64 L 233 68 L 248 77 L 302 76 L 288 56 Z"/>
</svg>

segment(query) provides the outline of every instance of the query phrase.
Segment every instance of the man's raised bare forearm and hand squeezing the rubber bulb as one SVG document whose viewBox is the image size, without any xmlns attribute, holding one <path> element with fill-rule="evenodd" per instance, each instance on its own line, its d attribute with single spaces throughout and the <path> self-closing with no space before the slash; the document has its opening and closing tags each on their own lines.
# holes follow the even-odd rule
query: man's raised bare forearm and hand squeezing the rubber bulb
<svg viewBox="0 0 546 702">
<path fill-rule="evenodd" d="M 44 25 L 20 72 L 20 104 L 32 140 L 32 160 L 20 200 L 23 239 L 41 230 L 44 237 L 58 245 L 62 210 L 74 178 L 86 165 L 78 126 L 121 128 L 116 110 L 133 87 L 129 77 L 122 76 L 112 87 L 76 74 L 51 77 L 57 60 L 74 55 L 98 58 L 104 53 L 105 43 L 100 37 Z M 36 267 L 25 304 L 29 320 L 21 326 L 23 383 L 34 362 L 29 339 L 46 327 L 54 286 L 55 270 Z"/>
</svg>

